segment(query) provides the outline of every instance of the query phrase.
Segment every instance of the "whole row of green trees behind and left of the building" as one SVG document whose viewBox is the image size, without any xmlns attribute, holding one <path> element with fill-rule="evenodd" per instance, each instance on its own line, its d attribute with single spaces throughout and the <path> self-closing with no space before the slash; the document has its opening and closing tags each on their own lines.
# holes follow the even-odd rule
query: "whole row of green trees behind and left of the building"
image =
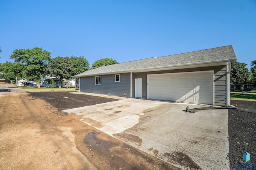
<svg viewBox="0 0 256 170">
<path fill-rule="evenodd" d="M 26 78 L 36 82 L 40 82 L 41 76 L 44 75 L 54 76 L 60 80 L 70 79 L 71 76 L 87 70 L 118 63 L 116 60 L 104 58 L 95 61 L 89 68 L 90 64 L 83 56 L 51 58 L 50 52 L 39 47 L 15 49 L 10 59 L 14 62 L 0 63 L 0 77 L 16 80 L 17 76 L 17 79 Z"/>
</svg>

